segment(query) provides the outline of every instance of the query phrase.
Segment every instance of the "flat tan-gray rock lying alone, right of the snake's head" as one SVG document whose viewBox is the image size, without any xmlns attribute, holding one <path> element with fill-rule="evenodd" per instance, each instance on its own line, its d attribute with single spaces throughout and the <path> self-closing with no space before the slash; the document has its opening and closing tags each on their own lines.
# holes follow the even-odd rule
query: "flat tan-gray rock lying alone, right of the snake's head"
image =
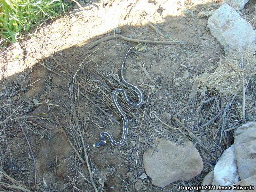
<svg viewBox="0 0 256 192">
<path fill-rule="evenodd" d="M 156 143 L 158 152 L 153 148 L 145 151 L 143 164 L 147 175 L 157 187 L 164 187 L 177 180 L 190 180 L 203 170 L 202 158 L 189 140 L 183 146 L 163 139 L 156 139 Z"/>
</svg>

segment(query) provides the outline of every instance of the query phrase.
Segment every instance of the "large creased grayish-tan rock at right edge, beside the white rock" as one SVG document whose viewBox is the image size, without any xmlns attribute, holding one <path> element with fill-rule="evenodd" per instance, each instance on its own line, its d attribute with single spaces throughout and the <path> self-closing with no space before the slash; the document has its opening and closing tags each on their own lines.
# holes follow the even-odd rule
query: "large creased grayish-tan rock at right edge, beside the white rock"
<svg viewBox="0 0 256 192">
<path fill-rule="evenodd" d="M 256 174 L 256 122 L 248 122 L 234 131 L 236 162 L 241 180 Z"/>
</svg>

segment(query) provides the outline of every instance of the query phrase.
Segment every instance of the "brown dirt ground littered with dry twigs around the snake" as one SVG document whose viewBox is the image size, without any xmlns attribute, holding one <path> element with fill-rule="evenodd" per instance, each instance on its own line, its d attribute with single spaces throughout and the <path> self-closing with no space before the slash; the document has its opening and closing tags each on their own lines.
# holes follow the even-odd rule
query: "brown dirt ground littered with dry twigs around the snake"
<svg viewBox="0 0 256 192">
<path fill-rule="evenodd" d="M 199 12 L 214 11 L 219 5 L 199 0 L 79 3 L 84 10 L 73 8 L 66 16 L 40 26 L 33 36 L 23 37 L 20 47 L 24 52 L 17 55 L 17 48 L 12 46 L 1 55 L 0 137 L 5 172 L 31 190 L 91 191 L 92 185 L 84 179 L 90 180 L 88 168 L 81 161 L 85 161 L 86 150 L 92 177 L 100 191 L 179 191 L 180 184 L 199 185 L 213 169 L 211 162 L 232 143 L 231 132 L 221 132 L 218 123 L 200 128 L 211 119 L 208 109 L 212 104 L 204 97 L 209 96 L 209 90 L 199 85 L 195 98 L 190 96 L 195 91 L 195 77 L 216 68 L 220 55 L 224 55 L 207 28 L 208 18 L 197 17 Z M 246 13 L 254 6 L 255 1 L 250 1 L 243 11 Z M 158 36 L 148 22 L 164 36 Z M 115 38 L 88 49 L 88 44 L 119 32 L 134 39 L 186 44 L 138 44 Z M 144 105 L 140 109 L 122 105 L 129 119 L 128 138 L 123 147 L 107 144 L 93 148 L 102 130 L 108 130 L 117 140 L 121 138 L 122 123 L 115 123 L 99 108 L 120 122 L 111 93 L 123 87 L 117 74 L 131 46 L 134 49 L 126 62 L 125 79 L 140 87 Z M 197 144 L 204 162 L 204 170 L 198 176 L 164 188 L 155 187 L 147 177 L 141 189 L 136 189 L 136 181 L 145 173 L 142 155 L 150 147 L 144 139 L 153 142 L 165 138 L 179 144 L 183 136 L 179 130 L 186 133 L 166 113 L 179 113 L 176 117 L 213 157 Z M 234 120 L 232 125 L 240 123 Z M 225 125 L 224 129 L 228 128 Z M 132 177 L 127 178 L 127 172 Z"/>
</svg>

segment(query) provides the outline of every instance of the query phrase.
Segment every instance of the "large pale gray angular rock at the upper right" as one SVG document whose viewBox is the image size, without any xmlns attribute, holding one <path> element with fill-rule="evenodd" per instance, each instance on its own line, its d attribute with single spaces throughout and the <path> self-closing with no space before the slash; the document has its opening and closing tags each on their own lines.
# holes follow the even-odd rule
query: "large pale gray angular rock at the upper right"
<svg viewBox="0 0 256 192">
<path fill-rule="evenodd" d="M 223 4 L 208 20 L 212 36 L 226 51 L 255 51 L 256 32 L 250 23 L 244 20 L 234 8 Z"/>
</svg>

